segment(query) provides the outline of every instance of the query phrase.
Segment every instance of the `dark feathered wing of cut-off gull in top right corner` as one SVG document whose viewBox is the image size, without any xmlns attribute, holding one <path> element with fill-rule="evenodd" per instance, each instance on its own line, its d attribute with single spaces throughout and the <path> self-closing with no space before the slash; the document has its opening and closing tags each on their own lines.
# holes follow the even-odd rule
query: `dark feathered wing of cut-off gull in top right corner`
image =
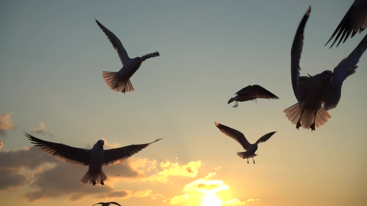
<svg viewBox="0 0 367 206">
<path fill-rule="evenodd" d="M 328 44 L 334 38 L 335 34 L 337 34 L 337 32 L 339 31 L 333 44 L 331 44 L 329 48 L 331 48 L 338 40 L 339 36 L 342 35 L 337 44 L 338 47 L 340 42 L 343 40 L 344 36 L 345 38 L 343 43 L 349 37 L 350 33 L 352 33 L 352 35 L 350 36 L 350 38 L 352 38 L 358 31 L 359 33 L 362 33 L 362 31 L 366 29 L 366 27 L 367 27 L 367 1 L 355 0 L 326 44 Z M 324 46 L 326 46 L 326 44 Z"/>
</svg>

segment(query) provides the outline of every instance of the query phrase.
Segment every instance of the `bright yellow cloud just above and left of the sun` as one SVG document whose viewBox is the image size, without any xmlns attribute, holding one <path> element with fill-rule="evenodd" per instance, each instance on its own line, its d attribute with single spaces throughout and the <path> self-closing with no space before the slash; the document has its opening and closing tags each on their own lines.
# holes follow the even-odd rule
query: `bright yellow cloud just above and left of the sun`
<svg viewBox="0 0 367 206">
<path fill-rule="evenodd" d="M 177 162 L 171 163 L 170 161 L 166 161 L 160 163 L 160 167 L 163 169 L 163 171 L 159 172 L 159 174 L 165 176 L 172 175 L 195 177 L 200 166 L 201 161 L 189 162 L 187 165 L 182 166 L 180 166 Z"/>
</svg>

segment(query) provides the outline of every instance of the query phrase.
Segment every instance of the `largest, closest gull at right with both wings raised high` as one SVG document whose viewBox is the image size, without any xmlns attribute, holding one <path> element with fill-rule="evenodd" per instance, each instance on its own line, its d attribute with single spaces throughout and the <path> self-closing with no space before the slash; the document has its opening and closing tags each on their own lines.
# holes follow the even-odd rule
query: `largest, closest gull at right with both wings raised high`
<svg viewBox="0 0 367 206">
<path fill-rule="evenodd" d="M 325 70 L 315 76 L 299 76 L 299 60 L 304 40 L 304 28 L 310 15 L 309 7 L 299 23 L 291 49 L 291 78 L 292 88 L 298 103 L 286 108 L 286 117 L 296 128 L 302 126 L 304 129 L 315 130 L 327 122 L 331 115 L 327 110 L 335 108 L 341 97 L 341 87 L 343 81 L 354 74 L 358 66 L 360 57 L 367 48 L 367 35 L 357 45 L 357 47 L 343 59 L 334 72 Z M 323 104 L 323 106 L 321 106 Z"/>
</svg>

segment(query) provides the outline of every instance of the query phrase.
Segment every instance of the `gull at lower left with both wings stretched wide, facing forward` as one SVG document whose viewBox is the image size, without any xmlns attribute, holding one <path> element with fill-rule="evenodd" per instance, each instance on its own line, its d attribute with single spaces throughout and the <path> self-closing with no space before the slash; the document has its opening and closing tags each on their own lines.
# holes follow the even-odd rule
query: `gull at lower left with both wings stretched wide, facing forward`
<svg viewBox="0 0 367 206">
<path fill-rule="evenodd" d="M 31 141 L 30 143 L 40 147 L 43 152 L 48 155 L 54 156 L 56 159 L 62 162 L 67 162 L 77 166 L 89 166 L 87 173 L 81 179 L 81 183 L 90 184 L 94 186 L 96 181 L 100 181 L 101 185 L 104 185 L 103 181 L 107 179 L 106 174 L 102 171 L 102 166 L 115 165 L 138 153 L 140 150 L 148 147 L 150 144 L 155 143 L 161 139 L 157 139 L 148 144 L 132 144 L 125 147 L 114 148 L 104 150 L 103 140 L 98 140 L 90 150 L 70 147 L 61 143 L 54 143 L 38 139 L 28 133 L 24 132 L 25 136 Z"/>
</svg>

